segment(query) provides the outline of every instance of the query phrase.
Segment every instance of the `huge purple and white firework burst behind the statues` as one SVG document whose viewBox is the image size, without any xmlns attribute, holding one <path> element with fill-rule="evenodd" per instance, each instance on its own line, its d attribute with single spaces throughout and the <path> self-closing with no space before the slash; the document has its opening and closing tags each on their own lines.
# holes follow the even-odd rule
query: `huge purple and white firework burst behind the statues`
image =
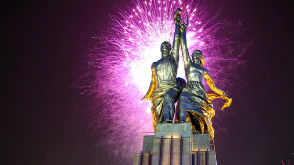
<svg viewBox="0 0 294 165">
<path fill-rule="evenodd" d="M 217 37 L 227 21 L 218 18 L 220 13 L 209 13 L 212 4 L 190 1 L 185 5 L 190 54 L 195 49 L 202 50 L 204 67 L 214 80 L 223 86 L 238 87 L 230 81 L 238 78 L 228 73 L 242 63 L 239 57 L 244 52 L 232 54 L 233 41 Z M 93 99 L 90 134 L 104 136 L 97 138 L 97 152 L 106 151 L 119 158 L 114 159 L 114 164 L 129 164 L 133 154 L 142 149 L 141 132 L 153 131 L 151 104 L 141 98 L 151 81 L 151 64 L 161 58 L 161 42 L 172 43 L 172 15 L 178 7 L 182 8 L 181 17 L 186 22 L 181 0 L 134 0 L 132 6 L 119 8 L 117 15 L 110 16 L 109 29 L 103 35 L 92 37 L 100 44 L 89 52 L 87 72 L 78 87 L 80 94 Z M 185 79 L 181 58 L 180 50 L 177 77 Z"/>
</svg>

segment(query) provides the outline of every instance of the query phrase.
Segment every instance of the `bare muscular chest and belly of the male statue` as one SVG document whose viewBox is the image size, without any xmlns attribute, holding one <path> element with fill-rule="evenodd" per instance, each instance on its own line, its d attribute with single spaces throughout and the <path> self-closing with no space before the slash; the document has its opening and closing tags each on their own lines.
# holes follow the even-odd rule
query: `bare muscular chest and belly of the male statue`
<svg viewBox="0 0 294 165">
<path fill-rule="evenodd" d="M 176 79 L 177 65 L 172 56 L 161 58 L 156 63 L 156 79 L 158 83 L 162 80 L 174 81 Z"/>
</svg>

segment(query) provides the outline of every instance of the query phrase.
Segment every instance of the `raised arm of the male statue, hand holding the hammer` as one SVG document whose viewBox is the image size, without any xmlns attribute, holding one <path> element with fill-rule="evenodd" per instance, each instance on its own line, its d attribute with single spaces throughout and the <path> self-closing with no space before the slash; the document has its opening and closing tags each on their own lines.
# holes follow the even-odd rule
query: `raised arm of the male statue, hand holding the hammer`
<svg viewBox="0 0 294 165">
<path fill-rule="evenodd" d="M 176 65 L 178 66 L 179 62 L 179 41 L 180 41 L 180 23 L 181 23 L 181 16 L 180 14 L 176 14 L 176 17 L 174 18 L 175 23 L 175 30 L 173 35 L 173 42 L 172 42 L 172 56 L 175 60 Z"/>
</svg>

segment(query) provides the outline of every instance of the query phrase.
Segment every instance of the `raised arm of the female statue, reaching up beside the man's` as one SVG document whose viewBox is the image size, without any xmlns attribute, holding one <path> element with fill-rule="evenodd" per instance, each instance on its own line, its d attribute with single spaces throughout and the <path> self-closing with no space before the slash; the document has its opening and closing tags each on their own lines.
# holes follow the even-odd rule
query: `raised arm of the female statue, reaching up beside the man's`
<svg viewBox="0 0 294 165">
<path fill-rule="evenodd" d="M 180 26 L 180 33 L 181 33 L 180 44 L 181 44 L 181 48 L 182 48 L 185 69 L 192 64 L 192 61 L 189 56 L 188 47 L 187 47 L 186 30 L 187 30 L 187 26 L 183 23 Z"/>
</svg>

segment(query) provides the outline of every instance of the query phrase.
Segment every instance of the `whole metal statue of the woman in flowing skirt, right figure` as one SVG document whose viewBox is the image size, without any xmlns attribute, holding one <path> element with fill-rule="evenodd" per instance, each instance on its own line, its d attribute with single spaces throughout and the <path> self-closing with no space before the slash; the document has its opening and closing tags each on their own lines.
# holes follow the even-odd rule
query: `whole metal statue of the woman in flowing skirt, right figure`
<svg viewBox="0 0 294 165">
<path fill-rule="evenodd" d="M 187 48 L 186 25 L 180 26 L 180 45 L 182 48 L 185 75 L 187 79 L 186 86 L 183 88 L 178 100 L 179 121 L 191 122 L 193 131 L 209 131 L 211 137 L 214 137 L 214 131 L 211 123 L 215 111 L 212 108 L 211 100 L 223 98 L 226 100 L 223 108 L 231 105 L 232 98 L 221 90 L 210 77 L 208 70 L 203 68 L 204 56 L 200 50 L 195 50 L 191 61 Z M 202 84 L 203 78 L 213 90 L 206 92 Z"/>
</svg>

